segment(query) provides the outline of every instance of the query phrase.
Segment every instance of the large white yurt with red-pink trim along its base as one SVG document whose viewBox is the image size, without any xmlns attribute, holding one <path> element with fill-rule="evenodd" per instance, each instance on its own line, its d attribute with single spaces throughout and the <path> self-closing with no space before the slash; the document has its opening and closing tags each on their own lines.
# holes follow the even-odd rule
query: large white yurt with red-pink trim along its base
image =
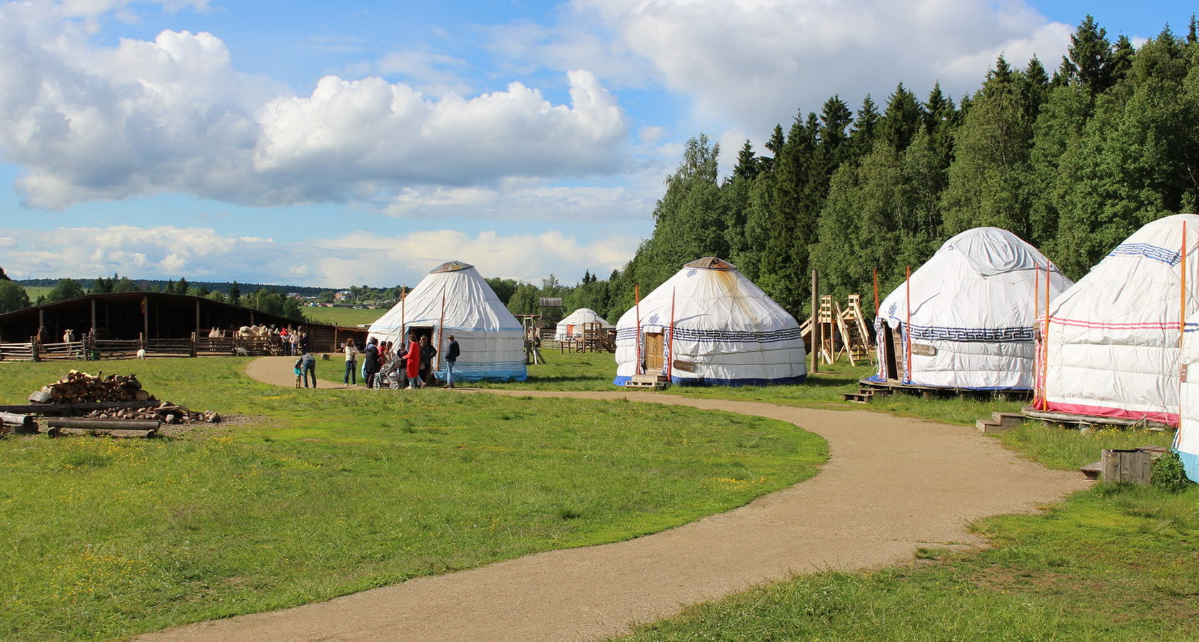
<svg viewBox="0 0 1199 642">
<path fill-rule="evenodd" d="M 1197 303 L 1197 214 L 1149 223 L 1050 305 L 1041 410 L 1177 425 L 1179 347 L 1199 340 L 1199 325 L 1185 340 L 1180 328 Z"/>
</svg>

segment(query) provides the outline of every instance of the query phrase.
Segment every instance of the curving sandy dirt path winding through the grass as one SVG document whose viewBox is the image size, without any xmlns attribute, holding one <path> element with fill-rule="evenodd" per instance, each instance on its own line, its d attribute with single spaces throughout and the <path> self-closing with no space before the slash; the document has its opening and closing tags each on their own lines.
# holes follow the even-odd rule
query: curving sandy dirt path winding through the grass
<svg viewBox="0 0 1199 642">
<path fill-rule="evenodd" d="M 246 371 L 291 386 L 290 367 L 281 359 L 287 357 L 251 362 Z M 802 484 L 664 533 L 532 555 L 139 640 L 605 638 L 628 632 L 633 623 L 662 619 L 686 605 L 767 580 L 900 563 L 920 546 L 977 545 L 981 538 L 966 532 L 969 522 L 1035 510 L 1087 485 L 1076 472 L 1024 461 L 965 426 L 645 392 L 514 394 L 627 398 L 782 419 L 824 436 L 831 459 Z"/>
</svg>

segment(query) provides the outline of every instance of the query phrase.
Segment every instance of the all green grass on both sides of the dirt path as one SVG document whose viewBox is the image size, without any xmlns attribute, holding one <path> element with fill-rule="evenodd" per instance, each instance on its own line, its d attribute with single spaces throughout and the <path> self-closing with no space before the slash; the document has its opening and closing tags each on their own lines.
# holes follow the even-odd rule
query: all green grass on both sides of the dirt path
<svg viewBox="0 0 1199 642">
<path fill-rule="evenodd" d="M 510 389 L 613 389 L 610 355 L 544 351 Z M 640 404 L 267 387 L 236 359 L 79 363 L 138 373 L 161 399 L 237 422 L 171 440 L 0 440 L 4 640 L 113 640 L 302 604 L 536 550 L 634 537 L 813 474 L 823 441 L 788 424 Z M 0 364 L 0 402 L 64 364 Z M 862 410 L 868 368 L 802 386 L 670 394 Z M 339 364 L 320 362 L 326 380 Z M 635 394 L 632 393 L 631 394 Z M 998 400 L 880 399 L 869 408 L 972 423 Z M 613 430 L 620 426 L 620 430 Z M 981 437 L 982 438 L 982 437 Z M 1055 468 L 1137 430 L 1026 423 L 1005 446 Z M 728 479 L 758 479 L 760 486 Z M 450 498 L 470 497 L 470 502 Z M 983 520 L 994 546 L 910 565 L 776 582 L 637 641 L 1195 640 L 1199 487 L 1096 486 L 1035 515 Z"/>
</svg>

